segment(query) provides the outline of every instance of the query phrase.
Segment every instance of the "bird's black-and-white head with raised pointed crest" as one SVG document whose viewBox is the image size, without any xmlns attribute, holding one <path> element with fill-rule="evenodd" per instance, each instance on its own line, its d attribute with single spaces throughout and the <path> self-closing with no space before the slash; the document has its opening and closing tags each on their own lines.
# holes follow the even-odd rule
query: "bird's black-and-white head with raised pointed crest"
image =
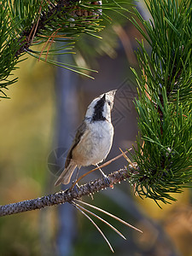
<svg viewBox="0 0 192 256">
<path fill-rule="evenodd" d="M 94 99 L 87 109 L 85 119 L 94 121 L 111 121 L 111 110 L 116 90 L 110 90 Z"/>
</svg>

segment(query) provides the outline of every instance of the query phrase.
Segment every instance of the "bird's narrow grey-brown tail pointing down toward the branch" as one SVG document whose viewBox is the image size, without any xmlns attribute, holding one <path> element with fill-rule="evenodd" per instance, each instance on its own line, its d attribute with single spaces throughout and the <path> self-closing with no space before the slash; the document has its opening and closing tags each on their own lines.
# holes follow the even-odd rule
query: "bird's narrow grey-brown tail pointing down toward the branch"
<svg viewBox="0 0 192 256">
<path fill-rule="evenodd" d="M 77 167 L 77 165 L 71 160 L 70 164 L 67 166 L 67 168 L 64 169 L 63 172 L 61 172 L 60 177 L 58 177 L 57 181 L 55 182 L 55 186 L 59 186 L 61 183 L 67 184 L 70 182 L 70 179 L 72 177 L 72 174 L 74 172 L 74 169 Z"/>
</svg>

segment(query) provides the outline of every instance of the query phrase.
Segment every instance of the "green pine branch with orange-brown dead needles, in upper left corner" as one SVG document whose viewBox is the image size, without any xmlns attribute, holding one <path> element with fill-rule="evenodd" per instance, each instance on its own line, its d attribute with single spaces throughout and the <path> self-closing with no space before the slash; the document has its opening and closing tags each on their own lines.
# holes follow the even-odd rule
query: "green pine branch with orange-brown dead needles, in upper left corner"
<svg viewBox="0 0 192 256">
<path fill-rule="evenodd" d="M 90 77 L 81 70 L 88 68 L 60 63 L 55 55 L 74 54 L 74 44 L 80 34 L 100 38 L 97 33 L 108 20 L 105 10 L 125 10 L 115 1 L 88 0 L 2 0 L 0 4 L 0 97 L 17 79 L 10 79 L 23 55 L 32 55 L 41 61 L 64 67 Z M 60 44 L 55 44 L 59 42 Z M 39 49 L 39 45 L 42 48 Z M 91 78 L 91 77 L 90 77 Z"/>
</svg>

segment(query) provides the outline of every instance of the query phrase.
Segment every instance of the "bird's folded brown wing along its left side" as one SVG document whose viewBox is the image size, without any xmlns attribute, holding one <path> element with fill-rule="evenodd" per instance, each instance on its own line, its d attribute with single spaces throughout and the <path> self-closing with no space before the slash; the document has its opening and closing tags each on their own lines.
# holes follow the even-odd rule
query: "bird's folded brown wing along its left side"
<svg viewBox="0 0 192 256">
<path fill-rule="evenodd" d="M 70 161 L 73 158 L 73 148 L 75 148 L 78 145 L 78 143 L 81 140 L 81 137 L 84 135 L 85 130 L 86 130 L 86 123 L 83 121 L 83 123 L 79 126 L 78 131 L 76 132 L 76 135 L 73 139 L 72 146 L 68 151 L 65 168 L 67 168 L 67 166 L 70 164 Z"/>
</svg>

